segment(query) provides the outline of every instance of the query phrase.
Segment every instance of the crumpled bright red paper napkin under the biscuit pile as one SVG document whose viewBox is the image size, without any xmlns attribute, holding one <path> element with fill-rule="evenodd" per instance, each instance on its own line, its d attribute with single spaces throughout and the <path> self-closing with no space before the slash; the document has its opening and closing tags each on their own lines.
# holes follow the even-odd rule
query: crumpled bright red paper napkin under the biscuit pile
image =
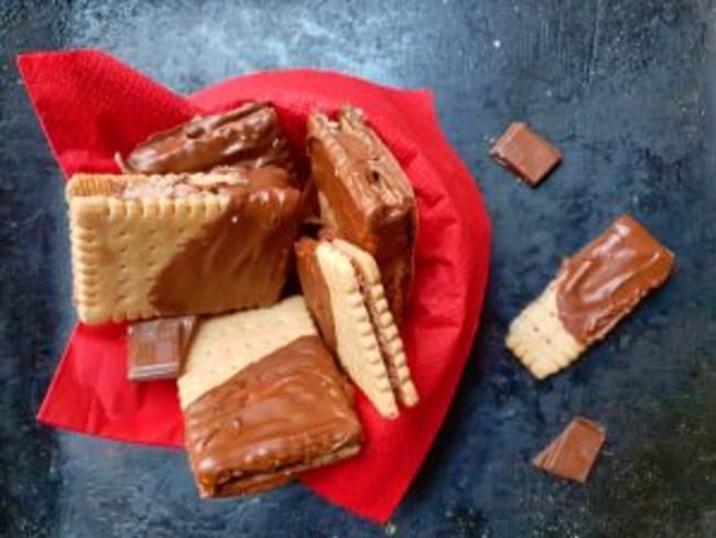
<svg viewBox="0 0 716 538">
<path fill-rule="evenodd" d="M 441 132 L 432 95 L 312 69 L 231 78 L 178 96 L 100 51 L 25 54 L 18 64 L 65 175 L 117 172 L 116 151 L 199 112 L 271 101 L 294 148 L 314 108 L 362 108 L 410 176 L 420 211 L 415 286 L 403 336 L 417 407 L 380 418 L 362 395 L 366 444 L 356 459 L 302 481 L 350 512 L 386 521 L 415 476 L 445 417 L 477 330 L 487 283 L 490 223 L 482 200 Z M 172 381 L 126 376 L 124 325 L 77 325 L 37 419 L 91 435 L 182 446 Z"/>
</svg>

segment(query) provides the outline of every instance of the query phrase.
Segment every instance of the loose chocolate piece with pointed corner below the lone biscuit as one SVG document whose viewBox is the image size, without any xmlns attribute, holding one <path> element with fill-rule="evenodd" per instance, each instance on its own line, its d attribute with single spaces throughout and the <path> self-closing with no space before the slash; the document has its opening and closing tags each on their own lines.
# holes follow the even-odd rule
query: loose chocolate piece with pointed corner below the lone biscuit
<svg viewBox="0 0 716 538">
<path fill-rule="evenodd" d="M 532 463 L 561 478 L 584 483 L 605 439 L 606 431 L 603 427 L 585 418 L 575 417 Z"/>
</svg>

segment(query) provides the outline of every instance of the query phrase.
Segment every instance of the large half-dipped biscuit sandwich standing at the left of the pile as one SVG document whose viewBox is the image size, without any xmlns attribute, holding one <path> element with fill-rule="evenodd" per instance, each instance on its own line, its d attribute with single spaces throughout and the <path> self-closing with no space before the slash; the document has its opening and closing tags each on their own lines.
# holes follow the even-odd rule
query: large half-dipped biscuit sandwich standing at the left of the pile
<svg viewBox="0 0 716 538">
<path fill-rule="evenodd" d="M 284 170 L 76 174 L 66 187 L 82 322 L 217 314 L 279 300 L 300 219 Z"/>
</svg>

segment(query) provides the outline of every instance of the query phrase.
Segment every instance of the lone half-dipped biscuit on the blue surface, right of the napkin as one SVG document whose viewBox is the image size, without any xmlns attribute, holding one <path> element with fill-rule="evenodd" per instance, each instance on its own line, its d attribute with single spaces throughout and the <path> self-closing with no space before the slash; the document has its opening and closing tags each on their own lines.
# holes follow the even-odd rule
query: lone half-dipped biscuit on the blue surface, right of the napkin
<svg viewBox="0 0 716 538">
<path fill-rule="evenodd" d="M 673 266 L 673 252 L 622 215 L 563 263 L 512 321 L 506 345 L 538 379 L 555 374 L 662 286 Z"/>
</svg>

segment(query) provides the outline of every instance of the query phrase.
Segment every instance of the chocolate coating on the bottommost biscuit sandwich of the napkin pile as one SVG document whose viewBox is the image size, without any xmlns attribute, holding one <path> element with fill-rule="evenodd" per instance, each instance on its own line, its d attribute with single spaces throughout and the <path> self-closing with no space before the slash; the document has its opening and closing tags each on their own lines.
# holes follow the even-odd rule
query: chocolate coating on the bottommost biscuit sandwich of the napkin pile
<svg viewBox="0 0 716 538">
<path fill-rule="evenodd" d="M 302 336 L 184 409 L 203 497 L 256 493 L 359 451 L 360 423 L 321 338 Z"/>
</svg>

